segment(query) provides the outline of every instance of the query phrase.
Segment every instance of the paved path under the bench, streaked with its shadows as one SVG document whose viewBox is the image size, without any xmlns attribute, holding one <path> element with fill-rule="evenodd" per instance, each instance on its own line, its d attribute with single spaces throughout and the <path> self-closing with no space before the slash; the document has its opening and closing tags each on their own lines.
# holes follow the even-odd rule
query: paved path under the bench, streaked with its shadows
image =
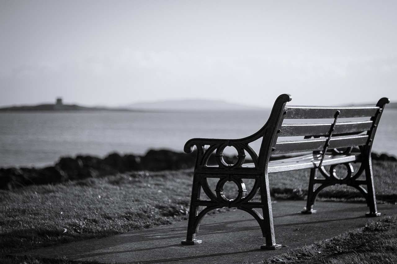
<svg viewBox="0 0 397 264">
<path fill-rule="evenodd" d="M 181 245 L 187 221 L 148 230 L 90 239 L 56 247 L 46 247 L 18 255 L 70 260 L 96 260 L 118 264 L 181 263 L 251 263 L 310 245 L 354 228 L 364 227 L 368 211 L 363 203 L 317 202 L 317 214 L 299 214 L 305 201 L 278 201 L 273 204 L 276 251 L 261 250 L 264 238 L 257 222 L 241 210 L 204 217 L 197 233 L 200 245 Z M 378 205 L 382 216 L 397 214 L 396 205 Z"/>
</svg>

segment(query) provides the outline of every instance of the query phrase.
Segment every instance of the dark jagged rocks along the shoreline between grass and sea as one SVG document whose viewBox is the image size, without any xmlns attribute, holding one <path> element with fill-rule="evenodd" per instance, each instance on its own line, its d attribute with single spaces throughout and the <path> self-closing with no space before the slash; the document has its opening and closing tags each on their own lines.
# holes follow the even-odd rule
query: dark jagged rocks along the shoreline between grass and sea
<svg viewBox="0 0 397 264">
<path fill-rule="evenodd" d="M 373 161 L 397 159 L 387 154 L 372 153 Z M 56 184 L 85 178 L 98 178 L 128 171 L 181 170 L 193 168 L 196 153 L 178 153 L 170 150 L 149 150 L 145 155 L 112 153 L 101 159 L 94 156 L 62 157 L 46 168 L 0 168 L 0 189 L 15 189 L 32 184 Z M 224 157 L 229 164 L 233 157 Z M 214 161 L 209 161 L 210 163 Z"/>
</svg>

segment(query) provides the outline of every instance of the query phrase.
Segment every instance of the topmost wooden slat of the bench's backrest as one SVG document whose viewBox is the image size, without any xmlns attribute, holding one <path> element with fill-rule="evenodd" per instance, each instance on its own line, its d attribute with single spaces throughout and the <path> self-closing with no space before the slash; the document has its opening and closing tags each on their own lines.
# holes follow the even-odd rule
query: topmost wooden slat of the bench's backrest
<svg viewBox="0 0 397 264">
<path fill-rule="evenodd" d="M 284 119 L 322 119 L 334 118 L 336 111 L 341 111 L 338 118 L 372 117 L 379 107 L 320 107 L 320 106 L 287 106 Z"/>
</svg>

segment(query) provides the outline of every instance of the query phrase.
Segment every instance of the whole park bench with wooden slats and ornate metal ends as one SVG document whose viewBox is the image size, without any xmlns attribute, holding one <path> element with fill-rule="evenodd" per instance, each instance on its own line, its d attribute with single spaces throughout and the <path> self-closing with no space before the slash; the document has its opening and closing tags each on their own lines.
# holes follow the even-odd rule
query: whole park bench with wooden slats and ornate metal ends
<svg viewBox="0 0 397 264">
<path fill-rule="evenodd" d="M 274 235 L 268 179 L 268 174 L 274 172 L 310 169 L 307 203 L 302 213 L 316 212 L 313 209 L 316 197 L 325 187 L 346 184 L 357 188 L 365 197 L 369 207 L 367 216 L 380 215 L 375 199 L 371 148 L 389 99 L 380 99 L 376 106 L 286 106 L 291 99 L 289 94 L 281 94 L 266 124 L 251 136 L 240 139 L 193 138 L 186 142 L 184 151 L 191 153 L 197 149 L 197 157 L 187 237 L 182 244 L 201 243 L 196 239 L 196 233 L 205 214 L 214 209 L 233 207 L 256 219 L 266 239 L 261 249 L 279 249 L 281 245 L 276 244 Z M 261 144 L 256 152 L 250 144 L 258 140 Z M 237 159 L 232 164 L 224 158 L 227 147 L 233 147 L 237 152 Z M 274 157 L 278 159 L 272 160 Z M 211 159 L 216 163 L 210 164 Z M 352 163 L 359 165 L 357 172 Z M 337 175 L 338 165 L 347 171 L 345 178 Z M 214 191 L 208 179 L 219 179 Z M 254 182 L 248 194 L 243 179 Z M 227 182 L 237 185 L 235 199 L 225 196 Z M 200 199 L 200 196 L 206 197 Z M 262 214 L 258 209 L 262 209 Z"/>
</svg>

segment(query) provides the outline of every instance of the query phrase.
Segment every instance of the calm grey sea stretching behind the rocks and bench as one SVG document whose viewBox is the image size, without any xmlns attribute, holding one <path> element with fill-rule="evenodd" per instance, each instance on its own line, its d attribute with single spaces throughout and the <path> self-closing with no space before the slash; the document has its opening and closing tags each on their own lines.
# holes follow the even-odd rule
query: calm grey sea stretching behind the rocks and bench
<svg viewBox="0 0 397 264">
<path fill-rule="evenodd" d="M 183 152 L 191 138 L 242 138 L 270 109 L 238 111 L 18 111 L 0 113 L 0 168 L 44 167 L 60 157 Z M 385 109 L 372 151 L 397 156 L 397 109 Z M 254 149 L 258 148 L 258 142 Z"/>
</svg>

